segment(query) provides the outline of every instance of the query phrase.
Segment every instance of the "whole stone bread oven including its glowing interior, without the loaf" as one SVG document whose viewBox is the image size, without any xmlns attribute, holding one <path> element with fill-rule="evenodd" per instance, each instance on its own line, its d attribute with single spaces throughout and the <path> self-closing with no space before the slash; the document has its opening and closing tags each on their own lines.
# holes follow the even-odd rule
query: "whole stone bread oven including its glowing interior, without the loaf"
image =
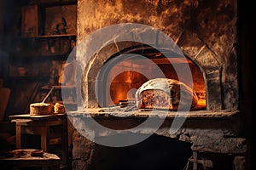
<svg viewBox="0 0 256 170">
<path fill-rule="evenodd" d="M 116 41 L 118 36 L 111 37 L 110 43 L 99 48 L 96 54 L 89 56 L 88 65 L 85 65 L 82 71 L 81 91 L 83 106 L 86 110 L 68 114 L 75 127 L 73 131 L 73 169 L 101 169 L 102 166 L 104 169 L 119 169 L 123 168 L 121 165 L 124 164 L 127 164 L 124 169 L 134 169 L 142 168 L 148 164 L 148 161 L 154 161 L 155 164 L 147 167 L 153 169 L 154 166 L 163 165 L 154 155 L 161 154 L 161 151 L 167 150 L 169 147 L 179 148 L 184 153 L 181 156 L 183 158 L 178 158 L 181 161 L 177 161 L 175 154 L 177 152 L 172 150 L 173 153 L 170 151 L 165 158 L 161 159 L 172 159 L 172 164 L 177 162 L 177 165 L 181 167 L 186 166 L 186 163 L 189 162 L 191 169 L 191 165 L 194 169 L 202 167 L 245 168 L 248 148 L 247 140 L 242 138 L 242 113 L 238 109 L 236 13 L 236 1 L 228 0 L 214 2 L 79 0 L 78 40 L 80 42 L 84 37 L 104 26 L 119 23 L 140 23 L 152 26 L 171 37 L 186 58 L 185 63 L 189 65 L 192 72 L 193 89 L 201 97 L 202 105 L 196 110 L 189 111 L 189 114 L 185 116 L 175 111 L 169 111 L 163 117 L 161 116 L 162 111 L 154 111 L 153 115 L 147 111 L 136 111 L 130 115 L 129 111 L 120 113 L 120 110 L 102 110 L 111 105 L 119 105 L 120 101 L 132 99 L 134 91 L 148 80 L 148 77 L 143 77 L 140 72 L 149 72 L 149 75 L 152 76 L 149 78 L 158 76 L 154 74 L 154 65 L 143 65 L 145 60 L 138 59 L 134 55 L 143 55 L 146 60 L 153 61 L 166 77 L 176 78 L 177 75 L 172 65 L 183 65 L 179 57 L 171 59 L 172 65 L 166 61 L 164 56 L 171 53 L 168 48 L 162 48 L 159 51 L 148 44 L 137 42 L 137 39 L 119 42 Z M 120 33 L 119 36 L 122 34 Z M 150 35 L 137 33 L 137 38 L 141 40 L 147 39 L 148 36 Z M 99 37 L 97 41 L 101 42 L 102 39 Z M 84 54 L 84 50 L 86 51 L 87 48 L 89 46 L 78 48 L 77 60 L 83 60 L 84 56 L 81 54 Z M 123 54 L 132 55 L 127 59 L 122 58 Z M 115 74 L 115 71 L 125 67 L 138 68 L 139 72 L 131 69 L 131 71 Z M 106 88 L 106 85 L 111 88 Z M 101 94 L 100 99 L 97 94 Z M 109 133 L 104 129 L 98 130 L 91 127 L 90 121 L 89 123 L 84 122 L 90 116 L 104 127 L 115 130 L 125 129 L 125 133 L 131 133 L 136 138 L 151 134 L 153 127 L 150 123 L 144 127 L 133 127 L 145 122 L 148 117 L 151 122 L 165 118 L 154 135 L 143 142 L 147 146 L 155 142 L 154 147 L 159 148 L 165 145 L 166 149 L 156 151 L 151 148 L 148 153 L 145 151 L 148 150 L 147 147 L 145 150 L 138 149 L 145 145 L 113 149 L 96 144 L 93 141 L 97 139 L 102 139 L 107 143 L 113 142 L 112 139 L 115 139 L 114 136 L 118 135 L 118 131 Z M 176 118 L 185 121 L 177 132 L 170 133 L 170 127 Z M 86 138 L 82 135 L 84 131 L 86 131 Z M 159 137 L 163 139 L 159 141 Z M 172 144 L 161 142 L 166 139 Z M 138 152 L 141 153 L 136 161 L 129 157 L 132 154 L 124 156 L 124 152 L 134 153 L 134 150 L 137 150 L 136 156 L 139 155 Z M 142 157 L 148 154 L 152 159 L 141 164 L 145 161 Z M 135 167 L 130 167 L 128 164 Z M 170 167 L 173 166 L 170 165 Z M 178 166 L 177 168 L 180 168 Z M 166 168 L 166 164 L 161 169 L 164 168 Z"/>
</svg>

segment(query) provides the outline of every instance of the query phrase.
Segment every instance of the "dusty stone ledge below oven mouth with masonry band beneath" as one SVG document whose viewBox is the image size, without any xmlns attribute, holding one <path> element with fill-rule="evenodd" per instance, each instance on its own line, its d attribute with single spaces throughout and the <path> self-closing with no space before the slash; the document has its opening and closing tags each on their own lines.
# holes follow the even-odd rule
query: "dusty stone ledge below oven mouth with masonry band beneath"
<svg viewBox="0 0 256 170">
<path fill-rule="evenodd" d="M 222 154 L 246 154 L 247 140 L 241 137 L 236 118 L 239 111 L 190 111 L 188 115 L 183 112 L 168 111 L 134 111 L 134 112 L 99 112 L 99 109 L 84 111 L 70 111 L 67 113 L 72 118 L 73 125 L 79 133 L 94 139 L 108 137 L 121 133 L 156 133 L 172 139 L 179 139 L 191 143 L 192 150 L 207 151 Z M 166 115 L 165 115 L 166 114 Z M 165 118 L 161 126 L 155 131 L 154 122 Z M 175 116 L 186 121 L 176 133 L 170 131 Z M 104 127 L 114 129 L 108 131 L 97 128 L 96 122 Z M 137 127 L 148 117 L 152 118 L 143 127 Z M 236 117 L 236 118 L 234 118 Z M 137 128 L 133 128 L 137 127 Z"/>
</svg>

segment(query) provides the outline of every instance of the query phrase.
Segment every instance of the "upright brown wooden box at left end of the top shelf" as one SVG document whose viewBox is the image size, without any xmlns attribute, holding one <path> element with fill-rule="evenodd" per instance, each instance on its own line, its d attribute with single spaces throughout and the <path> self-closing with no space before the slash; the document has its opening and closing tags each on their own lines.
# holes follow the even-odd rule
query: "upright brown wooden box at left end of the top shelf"
<svg viewBox="0 0 256 170">
<path fill-rule="evenodd" d="M 21 36 L 38 36 L 38 5 L 27 5 L 21 8 Z"/>
</svg>

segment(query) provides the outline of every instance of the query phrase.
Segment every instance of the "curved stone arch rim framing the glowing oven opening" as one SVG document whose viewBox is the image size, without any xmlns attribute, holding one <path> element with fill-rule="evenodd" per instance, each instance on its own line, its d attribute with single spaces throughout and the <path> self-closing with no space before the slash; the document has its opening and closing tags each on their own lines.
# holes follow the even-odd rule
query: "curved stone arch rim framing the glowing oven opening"
<svg viewBox="0 0 256 170">
<path fill-rule="evenodd" d="M 109 50 L 110 49 L 110 50 Z M 164 49 L 164 53 L 173 53 L 170 50 Z M 92 59 L 91 59 L 91 64 L 87 65 L 84 70 L 84 75 L 82 77 L 82 91 L 83 91 L 83 98 L 85 102 L 85 108 L 99 108 L 101 107 L 98 104 L 97 97 L 95 91 L 96 83 L 102 83 L 106 82 L 107 77 L 102 77 L 102 72 L 105 74 L 111 68 L 113 65 L 116 65 L 119 63 L 122 59 L 119 58 L 121 54 L 141 54 L 148 59 L 164 59 L 165 56 L 149 56 L 149 54 L 159 54 L 159 50 L 152 48 L 146 44 L 138 43 L 138 42 L 115 42 L 112 44 L 109 44 L 106 47 L 101 48 L 98 53 L 96 53 Z M 172 56 L 173 58 L 179 58 L 179 54 L 175 54 Z M 203 85 L 205 87 L 205 98 L 207 102 L 207 81 L 205 79 L 205 71 L 201 66 L 198 65 L 198 62 L 194 59 L 189 58 L 187 55 L 185 55 L 186 59 L 188 59 L 189 63 L 191 65 L 194 65 L 195 68 L 197 69 L 198 72 L 201 72 L 201 77 L 203 79 Z M 106 66 L 107 65 L 107 66 Z M 105 67 L 102 69 L 102 67 Z M 100 77 L 100 78 L 99 78 Z M 99 81 L 100 80 L 100 81 Z M 87 87 L 85 87 L 85 85 Z M 93 91 L 93 92 L 92 92 Z M 101 90 L 102 91 L 102 90 Z M 101 92 L 98 92 L 101 93 Z M 103 95 L 104 96 L 104 95 Z M 103 97 L 104 98 L 104 97 Z M 103 106 L 108 106 L 105 101 L 102 103 L 104 104 Z M 206 105 L 209 102 L 206 103 Z M 203 109 L 209 109 L 210 107 L 207 108 L 204 107 Z M 211 108 L 210 108 L 211 109 Z"/>
</svg>

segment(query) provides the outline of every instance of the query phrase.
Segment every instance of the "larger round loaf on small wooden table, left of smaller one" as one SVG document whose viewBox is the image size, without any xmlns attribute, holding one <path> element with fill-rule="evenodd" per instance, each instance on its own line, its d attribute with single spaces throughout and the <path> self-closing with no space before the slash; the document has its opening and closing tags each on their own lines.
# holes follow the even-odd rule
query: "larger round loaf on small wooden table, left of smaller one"
<svg viewBox="0 0 256 170">
<path fill-rule="evenodd" d="M 47 103 L 34 103 L 30 105 L 30 115 L 40 116 L 49 115 L 53 111 L 53 105 Z"/>
</svg>

